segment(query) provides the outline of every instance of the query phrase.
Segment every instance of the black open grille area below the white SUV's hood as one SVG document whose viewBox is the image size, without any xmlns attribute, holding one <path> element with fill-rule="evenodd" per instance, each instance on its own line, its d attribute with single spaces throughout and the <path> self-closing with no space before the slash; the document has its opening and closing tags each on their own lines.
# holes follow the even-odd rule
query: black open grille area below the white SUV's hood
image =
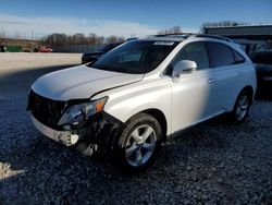
<svg viewBox="0 0 272 205">
<path fill-rule="evenodd" d="M 38 121 L 49 128 L 58 129 L 58 122 L 64 108 L 65 101 L 48 99 L 33 91 L 29 93 L 27 109 Z"/>
</svg>

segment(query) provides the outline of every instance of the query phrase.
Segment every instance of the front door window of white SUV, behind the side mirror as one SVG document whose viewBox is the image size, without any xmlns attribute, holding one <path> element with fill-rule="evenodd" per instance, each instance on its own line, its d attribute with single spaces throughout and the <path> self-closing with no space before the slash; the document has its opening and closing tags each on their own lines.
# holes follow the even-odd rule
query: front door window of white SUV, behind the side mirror
<svg viewBox="0 0 272 205">
<path fill-rule="evenodd" d="M 190 43 L 180 50 L 172 62 L 172 67 L 181 60 L 191 60 L 197 63 L 197 70 L 209 69 L 209 56 L 205 43 Z"/>
</svg>

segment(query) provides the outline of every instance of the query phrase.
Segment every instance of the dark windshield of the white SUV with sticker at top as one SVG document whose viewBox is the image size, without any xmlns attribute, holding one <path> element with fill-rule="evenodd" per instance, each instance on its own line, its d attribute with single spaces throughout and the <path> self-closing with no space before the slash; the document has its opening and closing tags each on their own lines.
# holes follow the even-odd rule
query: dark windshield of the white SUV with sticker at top
<svg viewBox="0 0 272 205">
<path fill-rule="evenodd" d="M 89 65 L 95 69 L 141 74 L 156 69 L 177 43 L 133 40 L 103 55 Z"/>
</svg>

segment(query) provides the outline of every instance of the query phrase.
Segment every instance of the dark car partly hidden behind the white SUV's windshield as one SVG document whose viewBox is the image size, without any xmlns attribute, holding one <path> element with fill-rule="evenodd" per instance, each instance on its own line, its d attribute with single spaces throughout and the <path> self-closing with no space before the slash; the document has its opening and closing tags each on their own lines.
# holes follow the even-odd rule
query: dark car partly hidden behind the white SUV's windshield
<svg viewBox="0 0 272 205">
<path fill-rule="evenodd" d="M 82 63 L 85 64 L 85 63 L 95 62 L 95 61 L 97 61 L 98 58 L 101 57 L 103 53 L 106 53 L 106 52 L 112 50 L 113 48 L 120 46 L 121 44 L 123 44 L 123 43 L 112 43 L 112 44 L 109 44 L 109 45 L 107 45 L 106 47 L 103 47 L 100 51 L 84 53 L 84 55 L 82 56 Z"/>
</svg>

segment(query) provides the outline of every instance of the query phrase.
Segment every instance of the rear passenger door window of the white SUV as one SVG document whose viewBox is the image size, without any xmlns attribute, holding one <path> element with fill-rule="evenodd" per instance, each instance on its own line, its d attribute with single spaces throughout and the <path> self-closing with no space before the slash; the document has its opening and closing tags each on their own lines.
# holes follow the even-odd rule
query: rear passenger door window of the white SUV
<svg viewBox="0 0 272 205">
<path fill-rule="evenodd" d="M 212 67 L 223 67 L 235 63 L 232 49 L 223 44 L 208 43 Z"/>
</svg>

